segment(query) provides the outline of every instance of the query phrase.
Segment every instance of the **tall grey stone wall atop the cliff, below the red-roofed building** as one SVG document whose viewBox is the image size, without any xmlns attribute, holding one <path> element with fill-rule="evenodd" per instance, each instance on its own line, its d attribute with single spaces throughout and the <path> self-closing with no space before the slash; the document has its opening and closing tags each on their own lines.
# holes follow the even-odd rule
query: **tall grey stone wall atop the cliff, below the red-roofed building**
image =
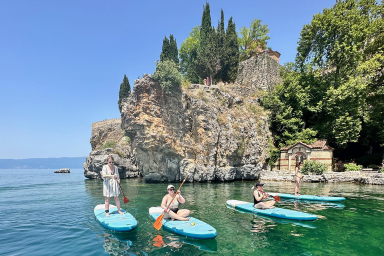
<svg viewBox="0 0 384 256">
<path fill-rule="evenodd" d="M 281 82 L 280 64 L 267 53 L 261 53 L 238 63 L 235 84 L 257 89 L 269 90 Z"/>
</svg>

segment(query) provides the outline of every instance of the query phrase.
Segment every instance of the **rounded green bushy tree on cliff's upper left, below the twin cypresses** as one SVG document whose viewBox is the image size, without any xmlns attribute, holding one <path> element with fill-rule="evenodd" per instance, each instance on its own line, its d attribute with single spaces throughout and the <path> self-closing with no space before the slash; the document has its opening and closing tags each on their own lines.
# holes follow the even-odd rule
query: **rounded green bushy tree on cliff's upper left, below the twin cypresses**
<svg viewBox="0 0 384 256">
<path fill-rule="evenodd" d="M 173 60 L 156 61 L 156 70 L 153 79 L 160 83 L 164 91 L 178 88 L 181 85 L 181 74 Z"/>
</svg>

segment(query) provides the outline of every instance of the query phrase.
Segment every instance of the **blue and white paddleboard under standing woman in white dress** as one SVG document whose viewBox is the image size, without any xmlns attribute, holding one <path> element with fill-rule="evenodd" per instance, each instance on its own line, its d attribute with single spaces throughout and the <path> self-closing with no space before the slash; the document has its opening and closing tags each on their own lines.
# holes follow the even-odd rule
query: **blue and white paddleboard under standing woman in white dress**
<svg viewBox="0 0 384 256">
<path fill-rule="evenodd" d="M 137 220 L 124 209 L 119 214 L 115 205 L 109 204 L 109 217 L 105 216 L 105 204 L 98 204 L 93 212 L 96 220 L 104 227 L 118 232 L 129 232 L 137 227 Z"/>
</svg>

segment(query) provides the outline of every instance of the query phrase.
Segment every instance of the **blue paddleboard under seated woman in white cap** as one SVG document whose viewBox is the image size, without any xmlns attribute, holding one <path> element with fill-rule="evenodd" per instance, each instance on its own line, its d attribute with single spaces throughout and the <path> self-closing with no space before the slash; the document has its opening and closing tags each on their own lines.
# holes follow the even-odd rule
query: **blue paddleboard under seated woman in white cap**
<svg viewBox="0 0 384 256">
<path fill-rule="evenodd" d="M 161 207 L 150 207 L 149 215 L 152 219 L 156 220 L 156 218 L 161 215 L 162 211 L 163 209 Z M 189 221 L 178 219 L 172 221 L 169 218 L 163 218 L 162 227 L 175 232 L 176 234 L 196 239 L 210 239 L 217 235 L 217 231 L 213 226 L 194 217 L 189 217 Z"/>
</svg>

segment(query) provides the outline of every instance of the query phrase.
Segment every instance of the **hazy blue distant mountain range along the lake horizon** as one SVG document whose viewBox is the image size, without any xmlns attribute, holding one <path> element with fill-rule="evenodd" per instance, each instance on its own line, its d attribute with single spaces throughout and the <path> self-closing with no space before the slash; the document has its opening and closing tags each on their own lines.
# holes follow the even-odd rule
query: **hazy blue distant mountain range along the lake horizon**
<svg viewBox="0 0 384 256">
<path fill-rule="evenodd" d="M 58 158 L 0 159 L 0 169 L 82 168 L 85 156 Z"/>
</svg>

